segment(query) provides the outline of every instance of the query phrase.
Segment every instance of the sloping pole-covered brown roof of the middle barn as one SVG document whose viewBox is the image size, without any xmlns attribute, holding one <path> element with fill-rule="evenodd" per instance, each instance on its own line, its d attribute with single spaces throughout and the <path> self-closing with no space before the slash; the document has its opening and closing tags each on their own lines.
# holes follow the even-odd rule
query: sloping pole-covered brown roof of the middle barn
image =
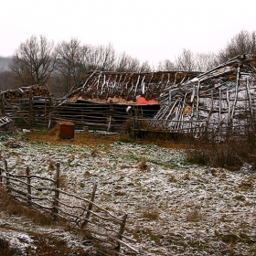
<svg viewBox="0 0 256 256">
<path fill-rule="evenodd" d="M 199 72 L 192 71 L 146 73 L 91 71 L 64 98 L 74 102 L 90 100 L 99 103 L 113 101 L 120 104 L 136 104 L 139 102 L 138 97 L 142 96 L 145 101 L 155 103 L 153 100 L 166 88 L 195 78 L 198 74 Z"/>
</svg>

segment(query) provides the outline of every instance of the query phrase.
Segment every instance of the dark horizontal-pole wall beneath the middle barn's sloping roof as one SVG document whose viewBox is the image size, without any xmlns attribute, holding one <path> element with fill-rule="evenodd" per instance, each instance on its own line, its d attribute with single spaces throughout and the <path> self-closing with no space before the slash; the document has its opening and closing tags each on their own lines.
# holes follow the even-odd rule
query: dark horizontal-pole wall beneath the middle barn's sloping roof
<svg viewBox="0 0 256 256">
<path fill-rule="evenodd" d="M 132 117 L 152 119 L 158 111 L 158 105 L 133 105 L 126 112 L 128 105 L 111 102 L 96 103 L 91 101 L 66 101 L 56 106 L 52 112 L 53 121 L 75 123 L 76 129 L 88 126 L 90 130 L 123 132 L 125 123 Z"/>
</svg>

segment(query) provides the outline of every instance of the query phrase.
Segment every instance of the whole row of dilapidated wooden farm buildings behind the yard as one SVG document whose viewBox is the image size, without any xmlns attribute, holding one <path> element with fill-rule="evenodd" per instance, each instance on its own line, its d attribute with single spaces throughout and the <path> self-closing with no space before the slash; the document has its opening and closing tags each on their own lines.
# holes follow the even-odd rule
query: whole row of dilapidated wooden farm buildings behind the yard
<svg viewBox="0 0 256 256">
<path fill-rule="evenodd" d="M 66 121 L 76 129 L 120 132 L 133 119 L 157 130 L 221 138 L 253 132 L 255 96 L 256 56 L 246 54 L 205 73 L 91 71 L 62 99 L 29 86 L 2 91 L 0 103 L 2 115 L 25 128 Z"/>
</svg>

